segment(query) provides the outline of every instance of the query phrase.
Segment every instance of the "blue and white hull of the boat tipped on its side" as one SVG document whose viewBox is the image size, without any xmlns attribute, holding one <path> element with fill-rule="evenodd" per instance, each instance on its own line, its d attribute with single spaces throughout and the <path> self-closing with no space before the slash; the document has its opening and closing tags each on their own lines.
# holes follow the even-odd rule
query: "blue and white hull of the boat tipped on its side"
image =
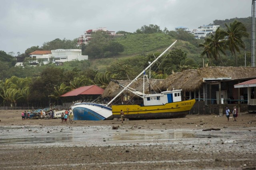
<svg viewBox="0 0 256 170">
<path fill-rule="evenodd" d="M 71 107 L 74 120 L 109 120 L 113 119 L 112 109 L 101 104 L 78 103 Z"/>
</svg>

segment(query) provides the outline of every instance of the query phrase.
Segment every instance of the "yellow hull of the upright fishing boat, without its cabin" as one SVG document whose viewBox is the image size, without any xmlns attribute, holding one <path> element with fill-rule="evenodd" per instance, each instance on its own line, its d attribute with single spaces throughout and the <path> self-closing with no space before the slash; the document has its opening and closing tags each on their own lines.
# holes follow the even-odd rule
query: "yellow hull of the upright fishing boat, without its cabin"
<svg viewBox="0 0 256 170">
<path fill-rule="evenodd" d="M 120 117 L 120 110 L 124 111 L 124 117 L 133 119 L 164 119 L 186 117 L 196 100 L 167 103 L 156 106 L 139 105 L 112 105 L 113 117 Z"/>
</svg>

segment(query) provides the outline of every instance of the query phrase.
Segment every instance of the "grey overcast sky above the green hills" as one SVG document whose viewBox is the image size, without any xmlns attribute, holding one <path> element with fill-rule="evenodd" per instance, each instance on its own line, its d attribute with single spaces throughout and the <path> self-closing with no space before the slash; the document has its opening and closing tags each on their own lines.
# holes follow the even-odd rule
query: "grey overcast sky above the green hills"
<svg viewBox="0 0 256 170">
<path fill-rule="evenodd" d="M 1 0 L 0 50 L 24 53 L 99 27 L 116 32 L 150 24 L 169 31 L 194 29 L 214 20 L 252 16 L 251 9 L 252 0 Z"/>
</svg>

